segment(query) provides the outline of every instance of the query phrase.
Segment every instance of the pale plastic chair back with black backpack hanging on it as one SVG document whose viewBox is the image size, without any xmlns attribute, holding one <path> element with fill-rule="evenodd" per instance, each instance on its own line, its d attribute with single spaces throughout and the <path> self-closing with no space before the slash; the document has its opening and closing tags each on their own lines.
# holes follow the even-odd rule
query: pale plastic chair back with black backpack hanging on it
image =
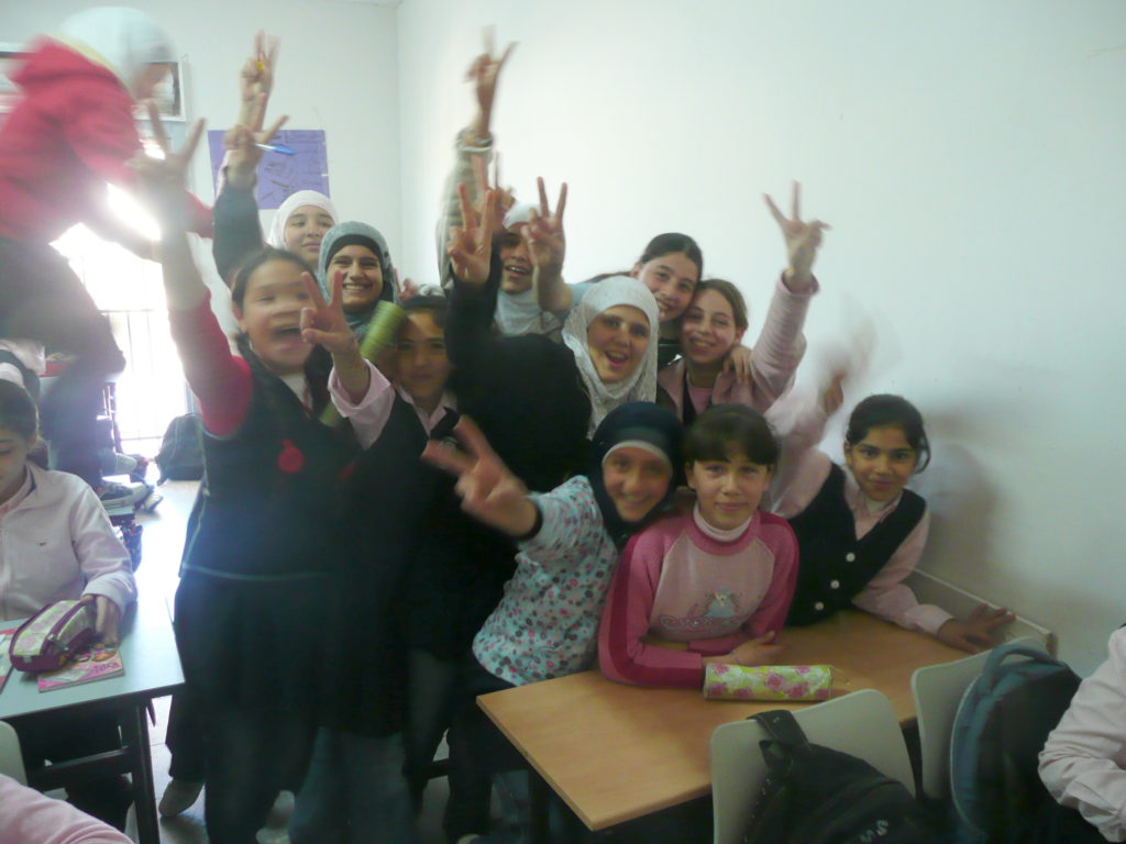
<svg viewBox="0 0 1126 844">
<path fill-rule="evenodd" d="M 892 702 L 874 689 L 795 709 L 794 717 L 813 744 L 851 753 L 914 794 L 906 743 Z M 723 724 L 712 733 L 712 811 L 714 844 L 738 844 L 751 815 L 751 801 L 766 778 L 757 721 Z"/>
</svg>

